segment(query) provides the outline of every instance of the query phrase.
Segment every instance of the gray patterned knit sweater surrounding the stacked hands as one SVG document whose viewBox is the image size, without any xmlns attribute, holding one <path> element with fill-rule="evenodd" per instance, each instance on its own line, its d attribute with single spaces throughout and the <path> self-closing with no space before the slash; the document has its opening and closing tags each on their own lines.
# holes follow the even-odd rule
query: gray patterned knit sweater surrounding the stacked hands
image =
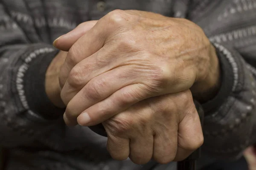
<svg viewBox="0 0 256 170">
<path fill-rule="evenodd" d="M 106 138 L 87 127 L 65 126 L 63 111 L 44 92 L 45 71 L 58 52 L 52 41 L 117 8 L 187 17 L 201 26 L 222 69 L 219 94 L 204 104 L 204 153 L 212 160 L 236 158 L 256 142 L 256 0 L 0 0 L 0 145 L 10 150 L 7 170 L 154 165 L 113 161 Z M 168 166 L 175 169 L 174 163 Z"/>
</svg>

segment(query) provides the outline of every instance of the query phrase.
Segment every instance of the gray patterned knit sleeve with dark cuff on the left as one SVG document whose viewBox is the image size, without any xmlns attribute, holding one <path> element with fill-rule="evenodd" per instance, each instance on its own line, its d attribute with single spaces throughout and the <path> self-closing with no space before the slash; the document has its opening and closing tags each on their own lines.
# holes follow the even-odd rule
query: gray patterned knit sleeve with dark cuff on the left
<svg viewBox="0 0 256 170">
<path fill-rule="evenodd" d="M 63 111 L 51 104 L 44 91 L 45 72 L 58 51 L 34 28 L 28 33 L 26 26 L 19 26 L 1 2 L 0 145 L 13 147 L 50 130 Z"/>
</svg>

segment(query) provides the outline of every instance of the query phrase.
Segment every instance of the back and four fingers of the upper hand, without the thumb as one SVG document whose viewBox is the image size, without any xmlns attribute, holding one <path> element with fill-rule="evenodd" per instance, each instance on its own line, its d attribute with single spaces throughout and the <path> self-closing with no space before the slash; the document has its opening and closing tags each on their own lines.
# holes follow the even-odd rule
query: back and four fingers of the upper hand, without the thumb
<svg viewBox="0 0 256 170">
<path fill-rule="evenodd" d="M 212 51 L 188 20 L 112 11 L 69 49 L 59 77 L 65 122 L 96 125 L 143 99 L 204 82 L 216 61 Z"/>
</svg>

